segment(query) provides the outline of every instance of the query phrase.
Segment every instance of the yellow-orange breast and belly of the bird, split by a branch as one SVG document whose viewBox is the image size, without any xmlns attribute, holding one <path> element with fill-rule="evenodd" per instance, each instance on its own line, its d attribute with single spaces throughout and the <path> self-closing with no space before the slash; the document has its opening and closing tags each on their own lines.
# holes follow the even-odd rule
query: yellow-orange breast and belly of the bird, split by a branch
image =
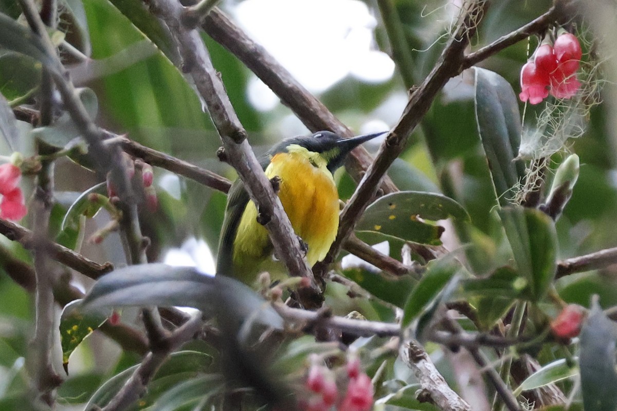
<svg viewBox="0 0 617 411">
<path fill-rule="evenodd" d="M 276 154 L 265 174 L 281 178 L 278 196 L 294 231 L 309 245 L 307 262 L 313 266 L 328 253 L 339 226 L 339 197 L 332 174 L 325 165 L 315 166 L 306 155 L 295 152 Z M 273 248 L 267 230 L 256 219 L 257 209 L 249 201 L 234 242 L 234 271 L 242 279 L 270 269 Z"/>
</svg>

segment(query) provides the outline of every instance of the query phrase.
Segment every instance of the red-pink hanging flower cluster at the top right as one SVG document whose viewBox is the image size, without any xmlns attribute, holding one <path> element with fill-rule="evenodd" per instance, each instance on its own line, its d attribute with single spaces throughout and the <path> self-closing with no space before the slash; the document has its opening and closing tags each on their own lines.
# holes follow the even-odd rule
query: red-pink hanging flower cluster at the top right
<svg viewBox="0 0 617 411">
<path fill-rule="evenodd" d="M 581 83 L 576 70 L 582 57 L 581 44 L 576 36 L 563 33 L 555 44 L 542 44 L 521 69 L 521 101 L 538 104 L 546 97 L 569 99 Z"/>
</svg>

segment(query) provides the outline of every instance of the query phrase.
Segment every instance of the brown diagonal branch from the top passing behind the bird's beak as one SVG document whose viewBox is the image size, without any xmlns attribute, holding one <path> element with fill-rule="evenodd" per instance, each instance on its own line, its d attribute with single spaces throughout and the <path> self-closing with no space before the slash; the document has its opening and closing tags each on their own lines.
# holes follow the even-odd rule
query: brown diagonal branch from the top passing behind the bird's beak
<svg viewBox="0 0 617 411">
<path fill-rule="evenodd" d="M 262 46 L 252 41 L 221 10 L 215 8 L 210 11 L 202 27 L 210 37 L 236 55 L 263 83 L 270 87 L 281 102 L 291 108 L 292 112 L 311 131 L 329 130 L 342 137 L 354 135 L 345 124 L 329 112 L 325 105 L 298 83 L 286 68 Z M 366 150 L 363 147 L 357 147 L 347 158 L 346 168 L 355 181 L 360 181 L 372 162 L 373 159 Z M 381 184 L 381 190 L 384 193 L 398 191 L 387 176 Z"/>
</svg>

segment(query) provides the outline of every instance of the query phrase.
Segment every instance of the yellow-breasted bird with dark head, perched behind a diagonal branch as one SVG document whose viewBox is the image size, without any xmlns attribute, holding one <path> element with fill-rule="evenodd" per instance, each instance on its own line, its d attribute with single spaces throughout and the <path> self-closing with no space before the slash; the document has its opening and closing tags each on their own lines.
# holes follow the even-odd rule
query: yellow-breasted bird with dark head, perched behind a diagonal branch
<svg viewBox="0 0 617 411">
<path fill-rule="evenodd" d="M 280 177 L 278 197 L 291 225 L 308 245 L 307 262 L 321 261 L 339 227 L 339 195 L 332 174 L 347 154 L 374 132 L 342 139 L 320 131 L 309 137 L 291 137 L 276 144 L 261 161 L 268 178 Z M 257 222 L 257 208 L 240 179 L 231 186 L 218 245 L 217 274 L 251 283 L 259 272 L 274 278 L 282 274 L 273 258 L 273 246 L 265 227 Z"/>
</svg>

